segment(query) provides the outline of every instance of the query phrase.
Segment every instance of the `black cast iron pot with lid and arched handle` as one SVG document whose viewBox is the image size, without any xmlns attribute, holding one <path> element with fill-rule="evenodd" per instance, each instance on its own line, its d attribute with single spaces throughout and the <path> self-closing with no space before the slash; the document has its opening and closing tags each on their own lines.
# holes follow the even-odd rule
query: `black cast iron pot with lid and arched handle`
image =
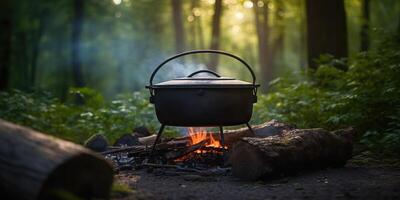
<svg viewBox="0 0 400 200">
<path fill-rule="evenodd" d="M 153 84 L 157 71 L 169 61 L 198 53 L 217 53 L 232 57 L 250 71 L 253 82 L 221 77 L 210 70 L 199 70 L 187 77 Z M 195 77 L 200 73 L 212 77 Z M 256 77 L 241 58 L 217 50 L 188 51 L 162 62 L 151 74 L 150 102 L 155 105 L 158 121 L 168 126 L 231 126 L 250 121 L 253 103 L 257 102 Z"/>
</svg>

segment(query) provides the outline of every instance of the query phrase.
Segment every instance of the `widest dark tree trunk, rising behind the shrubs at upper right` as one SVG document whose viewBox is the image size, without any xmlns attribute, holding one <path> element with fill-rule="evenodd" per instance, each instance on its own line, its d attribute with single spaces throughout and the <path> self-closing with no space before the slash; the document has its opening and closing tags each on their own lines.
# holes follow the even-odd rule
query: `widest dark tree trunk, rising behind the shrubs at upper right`
<svg viewBox="0 0 400 200">
<path fill-rule="evenodd" d="M 310 68 L 321 54 L 347 57 L 346 12 L 343 0 L 306 0 L 307 46 Z"/>
</svg>

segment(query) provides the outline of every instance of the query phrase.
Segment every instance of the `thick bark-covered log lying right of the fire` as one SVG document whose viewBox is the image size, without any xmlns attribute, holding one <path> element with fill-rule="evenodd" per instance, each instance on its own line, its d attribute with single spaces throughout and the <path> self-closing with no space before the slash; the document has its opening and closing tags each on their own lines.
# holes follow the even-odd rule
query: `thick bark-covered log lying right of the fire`
<svg viewBox="0 0 400 200">
<path fill-rule="evenodd" d="M 242 138 L 231 150 L 234 176 L 258 180 L 301 170 L 343 166 L 352 155 L 353 129 L 295 129 L 265 138 Z"/>
</svg>

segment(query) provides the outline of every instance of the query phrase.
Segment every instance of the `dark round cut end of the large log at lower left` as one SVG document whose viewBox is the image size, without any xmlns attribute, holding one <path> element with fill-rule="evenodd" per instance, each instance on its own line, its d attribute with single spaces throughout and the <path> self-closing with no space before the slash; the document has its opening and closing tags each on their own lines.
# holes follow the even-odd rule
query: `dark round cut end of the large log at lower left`
<svg viewBox="0 0 400 200">
<path fill-rule="evenodd" d="M 113 170 L 104 159 L 89 153 L 57 166 L 43 183 L 37 199 L 108 199 Z"/>
</svg>

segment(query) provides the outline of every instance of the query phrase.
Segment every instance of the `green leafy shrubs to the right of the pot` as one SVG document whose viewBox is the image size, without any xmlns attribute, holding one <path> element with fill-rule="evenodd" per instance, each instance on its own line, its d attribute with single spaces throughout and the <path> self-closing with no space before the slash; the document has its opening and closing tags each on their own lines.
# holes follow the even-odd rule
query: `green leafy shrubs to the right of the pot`
<svg viewBox="0 0 400 200">
<path fill-rule="evenodd" d="M 271 92 L 255 106 L 255 121 L 275 118 L 303 128 L 353 126 L 370 149 L 400 152 L 399 37 L 348 61 L 322 56 L 317 71 L 304 73 L 300 81 L 291 76 L 298 75 L 271 82 Z"/>
</svg>

